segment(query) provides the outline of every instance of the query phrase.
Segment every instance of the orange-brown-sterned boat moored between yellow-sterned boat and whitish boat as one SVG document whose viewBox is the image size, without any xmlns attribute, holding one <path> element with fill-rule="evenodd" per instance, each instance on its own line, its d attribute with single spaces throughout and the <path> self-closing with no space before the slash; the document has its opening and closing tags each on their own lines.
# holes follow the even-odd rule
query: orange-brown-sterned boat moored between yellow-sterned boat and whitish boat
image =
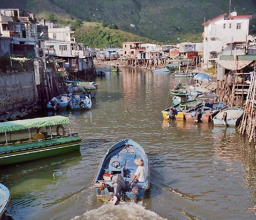
<svg viewBox="0 0 256 220">
<path fill-rule="evenodd" d="M 206 103 L 204 105 L 197 106 L 195 108 L 192 108 L 188 110 L 187 113 L 185 113 L 186 121 L 189 122 L 211 122 L 212 118 L 219 113 L 220 110 L 222 110 L 224 107 L 226 107 L 226 104 L 224 102 L 218 101 L 211 103 Z M 198 112 L 198 110 L 200 110 Z"/>
</svg>

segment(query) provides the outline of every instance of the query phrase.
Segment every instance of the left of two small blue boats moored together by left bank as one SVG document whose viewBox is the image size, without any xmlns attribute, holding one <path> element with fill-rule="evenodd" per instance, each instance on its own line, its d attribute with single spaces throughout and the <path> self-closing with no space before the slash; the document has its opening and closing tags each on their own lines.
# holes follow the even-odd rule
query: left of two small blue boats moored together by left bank
<svg viewBox="0 0 256 220">
<path fill-rule="evenodd" d="M 47 108 L 54 110 L 66 109 L 69 107 L 71 99 L 72 97 L 68 94 L 53 97 L 52 100 L 47 103 Z"/>
</svg>

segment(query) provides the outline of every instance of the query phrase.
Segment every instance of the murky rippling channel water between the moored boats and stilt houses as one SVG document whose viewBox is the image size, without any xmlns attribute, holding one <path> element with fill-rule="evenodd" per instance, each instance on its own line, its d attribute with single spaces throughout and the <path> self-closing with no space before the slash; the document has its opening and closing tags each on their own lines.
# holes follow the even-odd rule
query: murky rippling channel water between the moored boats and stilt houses
<svg viewBox="0 0 256 220">
<path fill-rule="evenodd" d="M 233 128 L 163 122 L 168 89 L 178 80 L 137 69 L 97 79 L 92 110 L 61 113 L 83 138 L 80 153 L 1 168 L 0 182 L 12 194 L 7 214 L 14 219 L 255 219 L 255 211 L 248 210 L 256 205 L 254 146 Z M 90 186 L 102 156 L 124 138 L 142 145 L 150 159 L 145 208 L 98 202 Z"/>
</svg>

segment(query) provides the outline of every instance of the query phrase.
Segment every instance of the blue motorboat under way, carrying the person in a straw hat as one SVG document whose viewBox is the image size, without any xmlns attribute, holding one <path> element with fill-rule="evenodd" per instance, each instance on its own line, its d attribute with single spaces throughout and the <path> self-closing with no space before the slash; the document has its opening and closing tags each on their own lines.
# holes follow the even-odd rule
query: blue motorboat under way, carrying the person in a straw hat
<svg viewBox="0 0 256 220">
<path fill-rule="evenodd" d="M 146 180 L 129 185 L 137 169 L 134 159 L 143 159 Z M 113 145 L 105 154 L 92 186 L 96 188 L 98 200 L 108 202 L 116 196 L 137 203 L 137 200 L 143 200 L 145 191 L 150 187 L 149 174 L 148 156 L 144 149 L 133 140 L 125 139 Z"/>
</svg>

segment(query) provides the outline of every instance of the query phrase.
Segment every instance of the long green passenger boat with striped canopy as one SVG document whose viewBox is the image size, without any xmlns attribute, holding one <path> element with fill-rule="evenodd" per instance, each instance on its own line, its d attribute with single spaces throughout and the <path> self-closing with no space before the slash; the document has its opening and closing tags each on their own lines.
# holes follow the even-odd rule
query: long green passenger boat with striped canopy
<svg viewBox="0 0 256 220">
<path fill-rule="evenodd" d="M 68 132 L 63 124 L 69 125 Z M 2 122 L 0 165 L 79 151 L 81 140 L 71 133 L 70 119 L 64 116 Z"/>
</svg>

